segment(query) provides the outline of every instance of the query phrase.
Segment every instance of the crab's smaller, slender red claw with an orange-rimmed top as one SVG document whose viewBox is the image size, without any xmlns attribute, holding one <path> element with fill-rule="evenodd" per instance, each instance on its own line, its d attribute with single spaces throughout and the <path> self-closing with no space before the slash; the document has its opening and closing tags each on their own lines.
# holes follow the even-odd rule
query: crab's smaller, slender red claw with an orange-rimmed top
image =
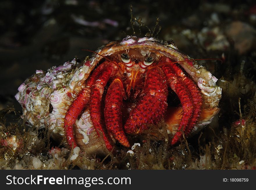
<svg viewBox="0 0 256 190">
<path fill-rule="evenodd" d="M 123 96 L 124 87 L 122 80 L 116 78 L 109 86 L 106 94 L 104 117 L 108 131 L 110 131 L 115 139 L 117 139 L 123 146 L 129 147 L 129 141 L 122 128 L 121 104 Z"/>
</svg>

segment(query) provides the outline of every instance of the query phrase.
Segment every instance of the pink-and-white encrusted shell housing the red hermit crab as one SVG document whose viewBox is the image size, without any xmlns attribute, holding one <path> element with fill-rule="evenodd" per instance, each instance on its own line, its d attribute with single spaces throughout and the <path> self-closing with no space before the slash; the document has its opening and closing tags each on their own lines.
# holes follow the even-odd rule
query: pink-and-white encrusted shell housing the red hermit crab
<svg viewBox="0 0 256 190">
<path fill-rule="evenodd" d="M 109 42 L 101 46 L 96 52 L 107 56 L 129 48 L 138 48 L 141 54 L 150 50 L 158 51 L 159 54 L 177 61 L 191 59 L 188 55 L 180 52 L 173 43 L 155 38 L 138 38 L 135 36 Z M 26 116 L 28 123 L 31 126 L 38 125 L 40 128 L 48 127 L 52 129 L 54 137 L 56 135 L 63 136 L 63 118 L 70 101 L 76 98 L 74 92 L 81 90 L 84 81 L 101 59 L 102 56 L 97 54 L 92 55 L 91 58 L 86 58 L 84 63 L 74 59 L 65 62 L 61 66 L 54 66 L 46 72 L 37 70 L 34 75 L 26 79 L 18 88 L 19 92 L 15 95 L 15 98 L 22 105 L 23 115 Z M 202 97 L 205 100 L 202 108 L 212 111 L 211 114 L 205 117 L 206 119 L 199 122 L 200 126 L 205 126 L 218 113 L 221 88 L 216 85 L 216 77 L 196 62 L 181 62 L 180 65 L 201 89 Z M 88 112 L 81 114 L 81 118 L 77 120 L 76 124 L 82 137 L 80 144 L 88 145 L 87 148 L 90 149 L 88 151 L 93 152 L 100 143 L 93 140 L 94 132 L 88 114 Z M 198 130 L 198 126 L 194 130 Z"/>
</svg>

